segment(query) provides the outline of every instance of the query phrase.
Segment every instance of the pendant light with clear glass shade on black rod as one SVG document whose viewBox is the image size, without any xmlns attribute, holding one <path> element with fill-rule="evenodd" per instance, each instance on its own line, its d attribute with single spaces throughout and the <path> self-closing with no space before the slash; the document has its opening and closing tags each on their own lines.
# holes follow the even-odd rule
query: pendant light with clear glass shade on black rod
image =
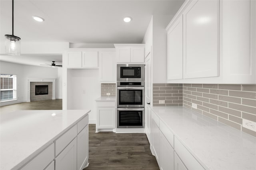
<svg viewBox="0 0 256 170">
<path fill-rule="evenodd" d="M 13 35 L 13 2 L 12 0 L 12 35 L 5 36 L 5 53 L 10 55 L 20 55 L 20 37 Z"/>
</svg>

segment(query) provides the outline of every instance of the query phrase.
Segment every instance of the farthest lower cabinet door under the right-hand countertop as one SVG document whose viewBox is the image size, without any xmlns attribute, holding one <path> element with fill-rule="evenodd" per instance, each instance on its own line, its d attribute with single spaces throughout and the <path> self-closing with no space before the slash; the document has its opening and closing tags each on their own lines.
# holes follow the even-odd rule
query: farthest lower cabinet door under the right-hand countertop
<svg viewBox="0 0 256 170">
<path fill-rule="evenodd" d="M 154 151 L 154 155 L 156 156 L 156 160 L 157 163 L 159 165 L 159 128 L 156 124 L 156 122 L 154 121 L 154 119 L 151 119 L 152 121 L 152 132 L 151 132 L 151 140 L 152 140 L 152 147 L 153 147 L 153 151 Z"/>
</svg>

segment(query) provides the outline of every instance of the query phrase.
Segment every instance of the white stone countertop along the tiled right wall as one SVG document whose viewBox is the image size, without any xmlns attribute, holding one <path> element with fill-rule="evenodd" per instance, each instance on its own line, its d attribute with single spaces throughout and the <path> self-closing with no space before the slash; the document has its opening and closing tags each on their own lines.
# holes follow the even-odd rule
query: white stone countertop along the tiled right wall
<svg viewBox="0 0 256 170">
<path fill-rule="evenodd" d="M 152 109 L 205 169 L 256 170 L 255 137 L 185 107 Z"/>
</svg>

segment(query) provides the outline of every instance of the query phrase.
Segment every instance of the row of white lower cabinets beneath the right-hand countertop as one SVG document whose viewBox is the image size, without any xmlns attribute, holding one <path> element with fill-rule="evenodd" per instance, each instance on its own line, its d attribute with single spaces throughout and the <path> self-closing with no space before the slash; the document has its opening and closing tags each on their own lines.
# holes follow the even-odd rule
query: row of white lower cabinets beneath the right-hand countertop
<svg viewBox="0 0 256 170">
<path fill-rule="evenodd" d="M 166 123 L 150 107 L 148 109 L 151 113 L 150 150 L 160 170 L 204 170 Z"/>
</svg>

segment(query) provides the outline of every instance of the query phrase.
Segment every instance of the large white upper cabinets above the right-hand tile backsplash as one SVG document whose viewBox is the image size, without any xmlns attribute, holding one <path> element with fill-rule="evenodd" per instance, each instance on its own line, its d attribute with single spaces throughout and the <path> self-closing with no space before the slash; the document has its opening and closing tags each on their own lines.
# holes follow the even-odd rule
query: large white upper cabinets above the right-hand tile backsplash
<svg viewBox="0 0 256 170">
<path fill-rule="evenodd" d="M 255 0 L 186 0 L 166 30 L 168 83 L 256 84 Z"/>
</svg>

